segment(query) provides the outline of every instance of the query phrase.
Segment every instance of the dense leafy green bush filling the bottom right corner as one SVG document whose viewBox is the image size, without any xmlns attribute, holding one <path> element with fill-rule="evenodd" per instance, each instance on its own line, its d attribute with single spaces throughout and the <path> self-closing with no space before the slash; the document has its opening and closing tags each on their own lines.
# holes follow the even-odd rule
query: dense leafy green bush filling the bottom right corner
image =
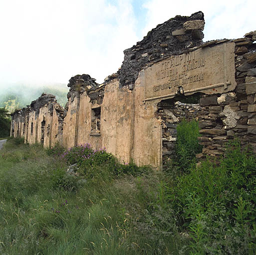
<svg viewBox="0 0 256 255">
<path fill-rule="evenodd" d="M 238 140 L 227 144 L 219 165 L 207 160 L 192 166 L 170 196 L 177 223 L 190 231 L 195 254 L 249 254 L 256 249 L 256 157 Z"/>
</svg>

